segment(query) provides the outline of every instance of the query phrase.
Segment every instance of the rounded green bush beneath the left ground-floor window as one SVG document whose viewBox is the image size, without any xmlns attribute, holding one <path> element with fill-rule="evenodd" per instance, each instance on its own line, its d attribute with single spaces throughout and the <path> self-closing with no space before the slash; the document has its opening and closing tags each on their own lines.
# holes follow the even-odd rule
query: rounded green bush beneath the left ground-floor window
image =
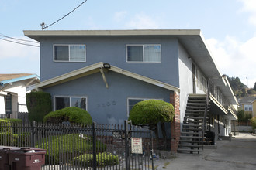
<svg viewBox="0 0 256 170">
<path fill-rule="evenodd" d="M 69 121 L 71 124 L 92 124 L 92 117 L 86 111 L 78 107 L 65 107 L 61 110 L 52 111 L 43 117 L 44 122 L 59 123 Z"/>
</svg>

